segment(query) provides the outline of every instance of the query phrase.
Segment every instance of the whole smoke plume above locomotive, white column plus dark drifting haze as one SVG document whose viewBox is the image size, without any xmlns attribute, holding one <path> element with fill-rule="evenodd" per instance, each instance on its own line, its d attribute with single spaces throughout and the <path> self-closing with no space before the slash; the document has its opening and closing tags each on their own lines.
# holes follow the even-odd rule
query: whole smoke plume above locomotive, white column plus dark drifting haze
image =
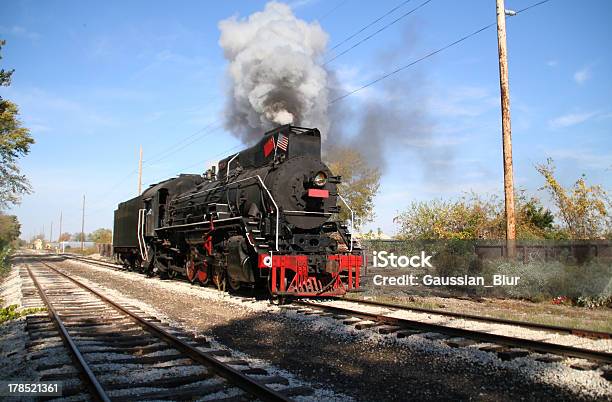
<svg viewBox="0 0 612 402">
<path fill-rule="evenodd" d="M 406 25 L 397 43 L 376 52 L 369 68 L 384 72 L 416 57 L 417 25 Z M 323 153 L 350 147 L 384 171 L 395 152 L 417 159 L 429 178 L 445 175 L 437 162 L 449 161 L 452 154 L 433 146 L 426 85 L 418 72 L 381 82 L 352 102 L 330 105 L 368 79 L 356 76 L 347 83 L 346 76 L 340 79 L 338 72 L 322 66 L 323 57 L 329 57 L 324 55 L 328 36 L 317 22 L 297 19 L 288 5 L 271 2 L 247 18 L 221 21 L 219 29 L 219 44 L 229 61 L 225 124 L 245 143 L 291 123 L 318 128 L 325 141 Z"/>
</svg>

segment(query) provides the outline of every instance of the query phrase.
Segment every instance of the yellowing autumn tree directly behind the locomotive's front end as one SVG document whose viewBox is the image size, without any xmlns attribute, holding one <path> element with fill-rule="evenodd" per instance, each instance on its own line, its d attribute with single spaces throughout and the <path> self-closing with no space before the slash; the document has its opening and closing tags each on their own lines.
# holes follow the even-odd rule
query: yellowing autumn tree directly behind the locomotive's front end
<svg viewBox="0 0 612 402">
<path fill-rule="evenodd" d="M 338 193 L 353 209 L 355 226 L 374 220 L 374 197 L 380 185 L 380 171 L 368 165 L 363 155 L 352 148 L 332 146 L 325 157 L 334 175 L 342 177 Z M 350 212 L 342 202 L 341 220 L 348 220 Z"/>
</svg>

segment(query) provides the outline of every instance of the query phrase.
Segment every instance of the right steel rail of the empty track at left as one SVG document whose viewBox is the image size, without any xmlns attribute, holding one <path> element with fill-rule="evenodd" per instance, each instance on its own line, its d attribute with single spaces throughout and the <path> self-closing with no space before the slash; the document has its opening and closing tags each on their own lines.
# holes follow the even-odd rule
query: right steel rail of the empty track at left
<svg viewBox="0 0 612 402">
<path fill-rule="evenodd" d="M 210 354 L 208 354 L 206 352 L 202 352 L 201 350 L 197 349 L 196 347 L 194 347 L 194 346 L 188 344 L 187 342 L 177 338 L 176 336 L 168 333 L 166 330 L 164 330 L 159 325 L 156 325 L 156 324 L 154 324 L 152 322 L 149 322 L 149 321 L 145 320 L 144 318 L 138 316 L 137 314 L 132 313 L 130 310 L 126 309 L 125 307 L 122 307 L 121 305 L 115 303 L 114 301 L 110 300 L 108 297 L 106 297 L 103 294 L 97 292 L 96 290 L 93 290 L 89 286 L 79 282 L 78 280 L 72 278 L 71 276 L 66 275 L 65 273 L 63 273 L 62 271 L 58 270 L 57 268 L 54 268 L 50 264 L 48 264 L 48 263 L 46 263 L 46 262 L 44 262 L 42 260 L 39 260 L 39 261 L 43 265 L 45 265 L 47 268 L 49 268 L 52 271 L 56 272 L 57 274 L 63 276 L 64 278 L 70 280 L 71 282 L 73 282 L 77 286 L 79 286 L 79 287 L 81 287 L 81 288 L 91 292 L 92 294 L 94 294 L 98 298 L 100 298 L 102 301 L 107 303 L 108 305 L 110 305 L 113 308 L 115 308 L 115 309 L 121 311 L 122 313 L 126 314 L 132 320 L 134 320 L 134 322 L 136 322 L 138 325 L 140 325 L 146 331 L 148 331 L 150 333 L 153 333 L 157 337 L 165 340 L 166 342 L 171 344 L 173 347 L 175 347 L 176 349 L 180 350 L 185 355 L 189 356 L 189 358 L 193 359 L 194 361 L 196 361 L 196 362 L 198 362 L 200 364 L 203 364 L 203 365 L 211 368 L 218 375 L 226 378 L 232 384 L 235 384 L 239 388 L 242 388 L 244 391 L 248 392 L 249 394 L 255 395 L 255 396 L 257 396 L 258 398 L 261 398 L 264 401 L 283 401 L 283 402 L 291 401 L 291 399 L 287 398 L 286 396 L 284 396 L 280 392 L 278 392 L 278 391 L 276 391 L 276 390 L 274 390 L 272 388 L 269 388 L 266 385 L 261 384 L 258 381 L 253 380 L 252 378 L 249 378 L 248 376 L 242 374 L 240 371 L 234 369 L 233 367 L 231 367 L 231 366 L 229 366 L 227 364 L 224 364 L 224 363 L 220 362 L 219 360 L 215 359 L 212 355 L 210 355 Z"/>
</svg>

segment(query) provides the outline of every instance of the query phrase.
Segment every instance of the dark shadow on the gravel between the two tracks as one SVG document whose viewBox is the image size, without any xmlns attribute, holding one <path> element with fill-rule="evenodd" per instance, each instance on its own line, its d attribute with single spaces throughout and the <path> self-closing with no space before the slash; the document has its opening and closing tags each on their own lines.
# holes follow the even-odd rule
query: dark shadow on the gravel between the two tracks
<svg viewBox="0 0 612 402">
<path fill-rule="evenodd" d="M 450 363 L 435 353 L 364 345 L 308 328 L 288 317 L 257 314 L 216 326 L 227 346 L 272 362 L 308 381 L 362 401 L 572 400 L 566 389 L 519 372 L 475 362 Z M 518 365 L 517 365 L 518 366 Z"/>
</svg>

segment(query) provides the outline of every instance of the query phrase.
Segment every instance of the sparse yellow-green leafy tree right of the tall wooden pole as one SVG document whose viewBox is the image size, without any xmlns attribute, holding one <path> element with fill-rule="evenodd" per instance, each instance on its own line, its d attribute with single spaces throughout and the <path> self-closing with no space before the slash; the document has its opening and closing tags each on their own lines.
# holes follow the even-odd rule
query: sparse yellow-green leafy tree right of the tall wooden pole
<svg viewBox="0 0 612 402">
<path fill-rule="evenodd" d="M 572 188 L 564 188 L 555 178 L 550 158 L 536 169 L 546 180 L 540 190 L 548 190 L 572 239 L 603 238 L 611 232 L 610 198 L 601 186 L 587 185 L 583 174 Z"/>
</svg>

